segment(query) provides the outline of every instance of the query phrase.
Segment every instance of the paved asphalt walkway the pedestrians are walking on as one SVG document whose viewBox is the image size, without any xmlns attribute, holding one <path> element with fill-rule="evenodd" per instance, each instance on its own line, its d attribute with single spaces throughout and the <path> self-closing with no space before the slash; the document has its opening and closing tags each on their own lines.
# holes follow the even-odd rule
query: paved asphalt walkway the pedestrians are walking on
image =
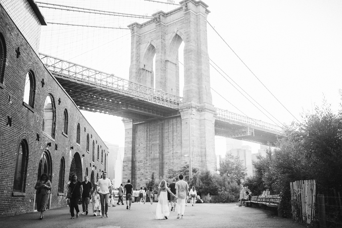
<svg viewBox="0 0 342 228">
<path fill-rule="evenodd" d="M 115 204 L 116 205 L 116 204 Z M 156 205 L 149 202 L 145 204 L 132 203 L 131 209 L 125 205 L 116 205 L 108 208 L 108 218 L 80 215 L 79 218 L 70 219 L 69 207 L 52 209 L 44 212 L 44 219 L 39 220 L 39 212 L 24 215 L 15 215 L 0 218 L 0 228 L 39 228 L 39 227 L 70 227 L 70 228 L 155 228 L 155 227 L 228 227 L 228 228 L 292 228 L 303 225 L 295 223 L 292 219 L 279 218 L 269 215 L 265 210 L 251 207 L 238 207 L 236 203 L 187 204 L 184 219 L 177 219 L 176 212 L 170 212 L 168 219 L 156 220 Z M 89 204 L 90 209 L 92 205 Z M 82 205 L 79 205 L 82 212 Z M 169 207 L 171 209 L 171 206 Z"/>
</svg>

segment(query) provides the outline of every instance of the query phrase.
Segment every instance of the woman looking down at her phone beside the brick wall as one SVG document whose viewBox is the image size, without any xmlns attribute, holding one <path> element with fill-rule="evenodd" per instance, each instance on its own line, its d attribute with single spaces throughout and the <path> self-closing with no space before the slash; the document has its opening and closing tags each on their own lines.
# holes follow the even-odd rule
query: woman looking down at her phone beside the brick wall
<svg viewBox="0 0 342 228">
<path fill-rule="evenodd" d="M 50 190 L 51 190 L 51 182 L 49 180 L 48 174 L 43 173 L 37 184 L 35 186 L 36 191 L 36 202 L 37 202 L 37 211 L 40 211 L 39 219 L 44 218 L 44 211 L 46 210 L 46 205 L 48 204 Z"/>
</svg>

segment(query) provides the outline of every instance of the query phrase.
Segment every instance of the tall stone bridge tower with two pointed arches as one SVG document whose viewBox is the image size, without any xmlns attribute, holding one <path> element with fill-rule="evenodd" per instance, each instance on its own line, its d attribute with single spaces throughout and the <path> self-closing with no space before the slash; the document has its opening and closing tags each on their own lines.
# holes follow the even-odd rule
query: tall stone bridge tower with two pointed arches
<svg viewBox="0 0 342 228">
<path fill-rule="evenodd" d="M 215 109 L 210 92 L 207 15 L 205 3 L 184 0 L 155 19 L 133 23 L 131 29 L 130 80 L 179 95 L 178 50 L 184 41 L 184 90 L 180 116 L 134 124 L 124 120 L 123 182 L 145 186 L 156 177 L 189 162 L 193 167 L 216 170 L 214 144 Z M 155 61 L 155 79 L 153 58 Z M 154 82 L 155 81 L 155 82 Z M 192 112 L 194 115 L 189 115 Z M 189 149 L 192 148 L 190 152 Z"/>
</svg>

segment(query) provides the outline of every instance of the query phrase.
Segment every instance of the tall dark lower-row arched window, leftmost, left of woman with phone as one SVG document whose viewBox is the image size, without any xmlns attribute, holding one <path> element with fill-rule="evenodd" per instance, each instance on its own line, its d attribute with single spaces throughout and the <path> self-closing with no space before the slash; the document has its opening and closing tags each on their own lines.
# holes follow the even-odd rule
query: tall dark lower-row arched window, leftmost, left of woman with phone
<svg viewBox="0 0 342 228">
<path fill-rule="evenodd" d="M 25 180 L 28 163 L 28 145 L 25 139 L 19 143 L 16 159 L 13 191 L 25 192 Z"/>
</svg>

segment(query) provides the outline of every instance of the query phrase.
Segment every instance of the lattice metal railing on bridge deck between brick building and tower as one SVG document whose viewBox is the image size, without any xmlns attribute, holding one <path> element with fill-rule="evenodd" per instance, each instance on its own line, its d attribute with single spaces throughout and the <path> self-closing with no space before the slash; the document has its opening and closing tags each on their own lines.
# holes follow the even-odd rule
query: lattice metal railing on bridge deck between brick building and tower
<svg viewBox="0 0 342 228">
<path fill-rule="evenodd" d="M 101 86 L 105 89 L 174 109 L 178 109 L 179 103 L 182 102 L 182 97 L 60 58 L 42 53 L 39 53 L 39 58 L 54 75 Z"/>
</svg>

